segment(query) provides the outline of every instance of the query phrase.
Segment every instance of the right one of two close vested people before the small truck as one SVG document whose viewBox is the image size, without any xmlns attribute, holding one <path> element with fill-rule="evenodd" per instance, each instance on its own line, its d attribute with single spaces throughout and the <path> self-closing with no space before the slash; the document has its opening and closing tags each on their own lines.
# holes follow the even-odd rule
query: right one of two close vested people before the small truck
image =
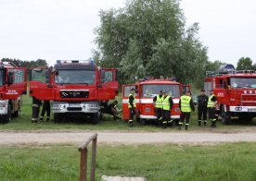
<svg viewBox="0 0 256 181">
<path fill-rule="evenodd" d="M 173 120 L 171 120 L 171 110 L 173 108 L 173 98 L 168 95 L 168 93 L 163 90 L 162 91 L 162 126 L 163 128 L 166 128 L 168 123 L 172 123 Z"/>
</svg>

